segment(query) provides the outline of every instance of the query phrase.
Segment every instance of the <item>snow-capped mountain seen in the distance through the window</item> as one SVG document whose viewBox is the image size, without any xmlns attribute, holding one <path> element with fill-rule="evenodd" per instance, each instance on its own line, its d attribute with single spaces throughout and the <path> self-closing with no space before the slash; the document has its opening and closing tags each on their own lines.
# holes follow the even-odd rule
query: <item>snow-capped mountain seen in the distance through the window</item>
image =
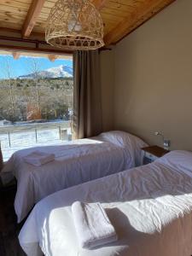
<svg viewBox="0 0 192 256">
<path fill-rule="evenodd" d="M 72 78 L 73 67 L 69 67 L 67 65 L 50 67 L 44 71 L 39 71 L 36 74 L 29 73 L 27 75 L 20 76 L 19 79 L 35 79 L 36 77 L 41 79 Z"/>
</svg>

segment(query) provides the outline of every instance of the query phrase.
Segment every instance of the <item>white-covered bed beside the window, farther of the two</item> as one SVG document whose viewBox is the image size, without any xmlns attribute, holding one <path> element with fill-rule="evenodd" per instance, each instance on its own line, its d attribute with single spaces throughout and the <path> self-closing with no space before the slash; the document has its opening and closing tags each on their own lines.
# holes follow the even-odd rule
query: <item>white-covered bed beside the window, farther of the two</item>
<svg viewBox="0 0 192 256">
<path fill-rule="evenodd" d="M 1 176 L 17 179 L 15 212 L 20 222 L 35 203 L 61 189 L 141 165 L 145 146 L 138 137 L 123 131 L 108 131 L 98 137 L 56 146 L 23 149 L 9 159 Z M 55 160 L 43 166 L 27 164 L 23 158 L 37 150 L 54 153 Z"/>
</svg>

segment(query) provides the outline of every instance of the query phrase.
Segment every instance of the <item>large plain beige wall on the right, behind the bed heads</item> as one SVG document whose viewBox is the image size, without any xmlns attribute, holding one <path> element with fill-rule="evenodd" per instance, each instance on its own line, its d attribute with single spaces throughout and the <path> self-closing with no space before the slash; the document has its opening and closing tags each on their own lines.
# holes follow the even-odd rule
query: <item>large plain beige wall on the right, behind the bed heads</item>
<svg viewBox="0 0 192 256">
<path fill-rule="evenodd" d="M 115 48 L 115 129 L 192 150 L 192 1 L 177 0 Z"/>
</svg>

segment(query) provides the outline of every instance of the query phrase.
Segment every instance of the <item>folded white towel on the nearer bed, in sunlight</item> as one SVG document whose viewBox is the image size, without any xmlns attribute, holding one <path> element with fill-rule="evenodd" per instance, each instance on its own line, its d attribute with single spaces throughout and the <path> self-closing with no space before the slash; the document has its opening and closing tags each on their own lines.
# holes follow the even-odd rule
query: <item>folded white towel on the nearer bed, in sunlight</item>
<svg viewBox="0 0 192 256">
<path fill-rule="evenodd" d="M 76 201 L 72 205 L 73 220 L 79 244 L 94 248 L 117 241 L 117 235 L 100 203 Z"/>
</svg>

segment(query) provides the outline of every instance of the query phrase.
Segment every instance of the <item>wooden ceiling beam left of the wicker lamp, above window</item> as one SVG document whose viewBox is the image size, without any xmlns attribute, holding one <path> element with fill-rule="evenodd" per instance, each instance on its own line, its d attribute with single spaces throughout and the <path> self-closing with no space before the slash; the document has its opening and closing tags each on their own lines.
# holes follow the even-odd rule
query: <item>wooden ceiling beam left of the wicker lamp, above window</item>
<svg viewBox="0 0 192 256">
<path fill-rule="evenodd" d="M 32 32 L 33 27 L 40 15 L 41 9 L 44 6 L 45 0 L 32 0 L 32 4 L 26 15 L 26 20 L 22 27 L 22 38 L 28 38 Z"/>
</svg>

